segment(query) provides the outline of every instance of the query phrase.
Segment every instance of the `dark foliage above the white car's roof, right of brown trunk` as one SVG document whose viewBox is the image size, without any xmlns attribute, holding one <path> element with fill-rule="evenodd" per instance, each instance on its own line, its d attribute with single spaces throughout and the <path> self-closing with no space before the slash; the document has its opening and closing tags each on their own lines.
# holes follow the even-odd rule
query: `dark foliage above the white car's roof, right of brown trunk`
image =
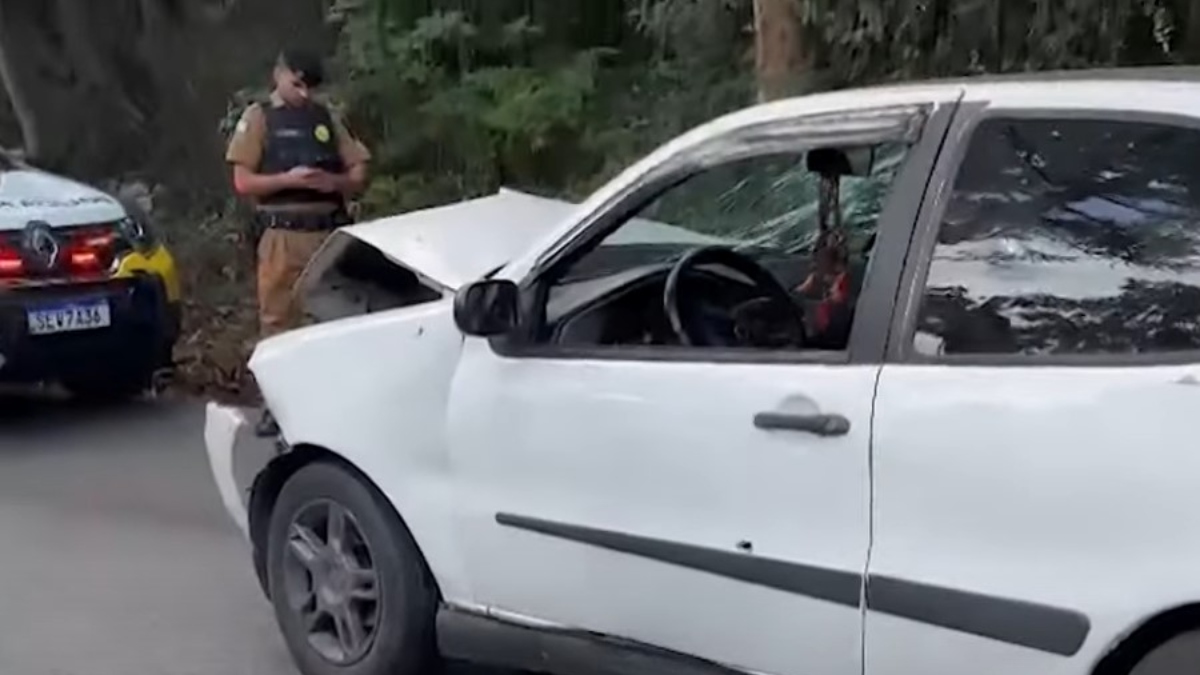
<svg viewBox="0 0 1200 675">
<path fill-rule="evenodd" d="M 1193 0 L 796 1 L 827 85 L 1181 62 L 1200 47 Z"/>
</svg>

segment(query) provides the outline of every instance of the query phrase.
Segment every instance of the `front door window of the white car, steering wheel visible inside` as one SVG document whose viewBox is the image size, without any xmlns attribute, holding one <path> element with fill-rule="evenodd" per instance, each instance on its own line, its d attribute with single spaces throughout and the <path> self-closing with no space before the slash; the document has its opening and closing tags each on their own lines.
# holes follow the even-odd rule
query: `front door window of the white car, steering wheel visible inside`
<svg viewBox="0 0 1200 675">
<path fill-rule="evenodd" d="M 880 213 L 907 148 L 838 150 L 847 161 L 869 157 L 838 177 L 814 172 L 805 153 L 755 156 L 688 177 L 636 209 L 557 277 L 547 294 L 544 339 L 574 346 L 677 345 L 678 335 L 667 325 L 661 283 L 642 285 L 641 293 L 611 301 L 605 294 L 642 279 L 661 281 L 688 252 L 720 246 L 752 258 L 792 292 L 810 323 L 810 348 L 845 350 Z M 821 268 L 833 271 L 815 274 L 817 250 L 830 247 L 822 244 L 830 240 L 822 239 L 822 190 L 829 213 L 840 213 L 824 221 L 826 229 L 840 234 L 839 257 Z M 806 283 L 812 277 L 818 279 Z M 712 316 L 710 328 L 746 318 L 742 311 L 746 298 L 726 297 L 727 292 L 720 283 L 690 285 L 688 301 L 696 312 Z M 600 300 L 605 300 L 602 307 L 596 306 Z M 587 317 L 576 316 L 584 312 Z M 740 328 L 745 327 L 734 329 Z"/>
</svg>

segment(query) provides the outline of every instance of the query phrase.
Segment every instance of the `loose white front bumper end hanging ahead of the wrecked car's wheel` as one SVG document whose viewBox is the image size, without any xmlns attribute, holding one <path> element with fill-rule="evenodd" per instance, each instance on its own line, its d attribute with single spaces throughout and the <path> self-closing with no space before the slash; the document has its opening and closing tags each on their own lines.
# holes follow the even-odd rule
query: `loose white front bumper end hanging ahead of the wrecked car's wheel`
<svg viewBox="0 0 1200 675">
<path fill-rule="evenodd" d="M 278 456 L 278 448 L 254 434 L 246 414 L 210 402 L 204 419 L 204 446 L 212 479 L 229 518 L 250 538 L 250 497 L 258 474 Z"/>
</svg>

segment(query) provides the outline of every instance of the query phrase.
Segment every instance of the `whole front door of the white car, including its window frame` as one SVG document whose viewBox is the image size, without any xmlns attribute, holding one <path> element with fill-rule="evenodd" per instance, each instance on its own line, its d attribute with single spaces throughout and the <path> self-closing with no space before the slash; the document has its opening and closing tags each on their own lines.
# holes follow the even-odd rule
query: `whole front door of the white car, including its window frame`
<svg viewBox="0 0 1200 675">
<path fill-rule="evenodd" d="M 805 150 L 840 137 L 888 149 L 841 184 L 865 277 L 848 342 L 602 345 L 612 340 L 592 340 L 587 312 L 569 339 L 466 340 L 448 437 L 476 610 L 760 673 L 860 673 L 883 328 L 950 114 L 919 103 L 779 120 L 786 137 L 760 124 L 761 149 L 732 143 L 736 131 L 702 142 L 630 185 L 563 267 L 550 261 L 526 285 L 553 313 L 637 276 L 646 251 L 803 249 L 818 229 Z M 764 238 L 758 227 L 780 219 L 794 225 Z M 576 273 L 583 281 L 566 281 Z M 787 287 L 804 273 L 776 270 Z M 653 330 L 638 321 L 630 331 Z"/>
</svg>

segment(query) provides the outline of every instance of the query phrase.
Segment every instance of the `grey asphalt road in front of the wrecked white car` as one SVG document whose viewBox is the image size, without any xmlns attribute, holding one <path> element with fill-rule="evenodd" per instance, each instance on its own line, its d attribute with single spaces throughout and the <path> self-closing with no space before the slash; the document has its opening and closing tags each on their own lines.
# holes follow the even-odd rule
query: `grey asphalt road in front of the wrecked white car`
<svg viewBox="0 0 1200 675">
<path fill-rule="evenodd" d="M 0 394 L 0 673 L 296 675 L 203 416 Z"/>
</svg>

